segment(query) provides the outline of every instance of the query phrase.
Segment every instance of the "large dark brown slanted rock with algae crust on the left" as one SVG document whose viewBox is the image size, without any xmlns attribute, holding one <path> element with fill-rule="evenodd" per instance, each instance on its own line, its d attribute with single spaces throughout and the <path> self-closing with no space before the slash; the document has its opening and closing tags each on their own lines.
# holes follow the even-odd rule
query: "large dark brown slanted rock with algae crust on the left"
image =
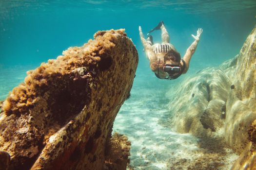
<svg viewBox="0 0 256 170">
<path fill-rule="evenodd" d="M 124 149 L 117 160 L 126 167 L 129 142 L 111 133 L 137 65 L 138 52 L 120 29 L 97 32 L 28 71 L 0 114 L 0 150 L 11 157 L 9 170 L 100 170 L 118 148 L 113 140 Z"/>
</svg>

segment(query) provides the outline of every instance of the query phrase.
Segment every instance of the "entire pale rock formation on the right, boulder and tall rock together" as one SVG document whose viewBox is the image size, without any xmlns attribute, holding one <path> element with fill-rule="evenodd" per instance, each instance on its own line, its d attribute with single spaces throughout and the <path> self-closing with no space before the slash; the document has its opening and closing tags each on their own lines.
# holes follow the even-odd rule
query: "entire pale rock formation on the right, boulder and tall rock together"
<svg viewBox="0 0 256 170">
<path fill-rule="evenodd" d="M 221 137 L 241 153 L 233 170 L 256 168 L 256 27 L 239 55 L 171 91 L 176 91 L 169 108 L 177 132 Z"/>
</svg>

